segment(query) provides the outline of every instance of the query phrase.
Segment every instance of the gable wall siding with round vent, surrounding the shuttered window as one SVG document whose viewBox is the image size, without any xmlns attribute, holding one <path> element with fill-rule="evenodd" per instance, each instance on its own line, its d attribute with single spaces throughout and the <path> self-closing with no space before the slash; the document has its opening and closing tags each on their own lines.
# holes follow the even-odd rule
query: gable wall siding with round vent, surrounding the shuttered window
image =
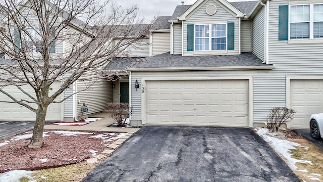
<svg viewBox="0 0 323 182">
<path fill-rule="evenodd" d="M 198 24 L 199 22 L 206 23 L 206 22 L 216 22 L 216 21 L 227 21 L 227 22 L 234 22 L 234 28 L 235 28 L 235 36 L 234 36 L 234 50 L 228 50 L 227 54 L 239 54 L 239 19 L 235 18 L 232 14 L 230 14 L 226 9 L 222 8 L 219 4 L 217 4 L 217 13 L 209 16 L 205 13 L 205 8 L 207 5 L 210 4 L 216 4 L 214 1 L 209 0 L 206 1 L 204 4 L 202 3 L 202 6 L 199 7 L 199 9 L 196 12 L 193 12 L 193 14 L 184 21 L 184 56 L 193 56 L 194 54 L 202 53 L 201 51 L 197 51 L 194 53 L 194 51 L 187 51 L 187 25 L 188 24 Z M 207 51 L 205 51 L 207 52 Z M 217 54 L 217 53 L 212 53 Z M 223 53 L 221 53 L 223 55 Z"/>
</svg>

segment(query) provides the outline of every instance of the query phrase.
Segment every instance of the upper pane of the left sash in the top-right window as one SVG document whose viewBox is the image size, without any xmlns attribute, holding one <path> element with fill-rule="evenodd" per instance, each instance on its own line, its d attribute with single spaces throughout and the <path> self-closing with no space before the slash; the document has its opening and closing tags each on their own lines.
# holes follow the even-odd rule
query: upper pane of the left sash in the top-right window
<svg viewBox="0 0 323 182">
<path fill-rule="evenodd" d="M 291 22 L 309 21 L 309 5 L 291 6 Z"/>
</svg>

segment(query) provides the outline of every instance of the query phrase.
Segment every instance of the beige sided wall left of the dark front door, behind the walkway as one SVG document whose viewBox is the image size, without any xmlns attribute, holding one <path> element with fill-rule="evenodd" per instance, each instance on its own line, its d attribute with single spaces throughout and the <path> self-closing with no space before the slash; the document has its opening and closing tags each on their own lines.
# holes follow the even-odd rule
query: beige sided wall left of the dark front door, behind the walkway
<svg viewBox="0 0 323 182">
<path fill-rule="evenodd" d="M 89 81 L 77 81 L 76 90 L 82 90 L 86 88 Z M 101 112 L 106 109 L 106 103 L 113 102 L 113 90 L 110 81 L 104 79 L 98 80 L 95 84 L 91 85 L 89 89 L 84 90 L 77 94 L 77 100 L 80 103 L 77 104 L 76 113 L 77 119 L 81 119 L 82 105 L 85 103 L 88 106 L 88 113 L 83 113 L 90 115 L 93 113 Z"/>
</svg>

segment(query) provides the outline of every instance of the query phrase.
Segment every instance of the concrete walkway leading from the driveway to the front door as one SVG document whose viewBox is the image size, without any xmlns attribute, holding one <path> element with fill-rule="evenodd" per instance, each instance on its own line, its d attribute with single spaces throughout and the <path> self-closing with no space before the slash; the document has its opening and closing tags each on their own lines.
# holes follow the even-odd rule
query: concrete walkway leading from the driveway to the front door
<svg viewBox="0 0 323 182">
<path fill-rule="evenodd" d="M 82 126 L 68 126 L 68 125 L 45 125 L 44 129 L 53 130 L 77 130 L 77 131 L 104 131 L 104 132 L 136 132 L 140 128 L 122 128 L 109 127 L 115 123 L 115 120 L 110 118 L 110 113 L 102 112 L 91 116 L 91 118 L 102 118 L 100 120 L 85 124 Z"/>
</svg>

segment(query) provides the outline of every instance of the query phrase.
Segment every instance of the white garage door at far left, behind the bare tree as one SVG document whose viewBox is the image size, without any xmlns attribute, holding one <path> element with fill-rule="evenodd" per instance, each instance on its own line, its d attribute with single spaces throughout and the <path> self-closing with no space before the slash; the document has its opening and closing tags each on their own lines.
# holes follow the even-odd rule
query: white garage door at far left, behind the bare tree
<svg viewBox="0 0 323 182">
<path fill-rule="evenodd" d="M 60 82 L 55 82 L 52 85 L 53 90 L 59 88 L 60 84 Z M 33 90 L 30 86 L 24 85 L 23 88 L 27 93 L 34 95 L 32 94 Z M 15 86 L 8 86 L 5 88 L 5 90 L 17 99 L 28 99 L 26 95 L 22 94 L 21 91 Z M 3 93 L 0 93 L 0 101 L 11 100 Z M 62 104 L 53 103 L 49 105 L 46 121 L 61 121 L 61 105 Z M 37 107 L 35 106 L 34 108 Z M 16 103 L 0 103 L 0 120 L 2 121 L 34 121 L 35 118 L 36 114 L 23 106 Z"/>
</svg>

